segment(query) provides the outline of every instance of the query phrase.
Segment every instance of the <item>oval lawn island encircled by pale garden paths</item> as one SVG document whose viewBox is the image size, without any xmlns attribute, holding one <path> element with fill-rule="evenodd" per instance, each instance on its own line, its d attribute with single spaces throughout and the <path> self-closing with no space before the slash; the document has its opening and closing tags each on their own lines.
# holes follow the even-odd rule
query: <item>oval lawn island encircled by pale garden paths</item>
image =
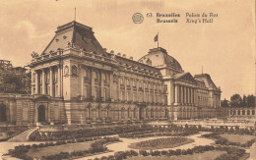
<svg viewBox="0 0 256 160">
<path fill-rule="evenodd" d="M 134 149 L 151 150 L 173 148 L 191 142 L 194 142 L 194 140 L 186 137 L 167 137 L 132 143 L 131 145 L 129 145 L 129 147 Z"/>
</svg>

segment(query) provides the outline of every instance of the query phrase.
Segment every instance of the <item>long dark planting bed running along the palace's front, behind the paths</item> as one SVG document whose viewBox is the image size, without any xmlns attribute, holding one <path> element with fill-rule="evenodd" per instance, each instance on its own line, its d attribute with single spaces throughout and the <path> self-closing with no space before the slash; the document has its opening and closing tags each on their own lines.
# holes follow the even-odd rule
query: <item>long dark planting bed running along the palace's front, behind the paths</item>
<svg viewBox="0 0 256 160">
<path fill-rule="evenodd" d="M 146 137 L 152 136 L 151 133 L 173 133 L 174 135 L 190 135 L 198 133 L 199 130 L 196 127 L 182 128 L 177 126 L 169 126 L 168 128 L 162 128 L 160 126 L 122 126 L 122 127 L 111 127 L 111 128 L 98 128 L 98 129 L 87 129 L 80 131 L 63 131 L 58 133 L 34 133 L 30 136 L 31 140 L 45 141 L 45 140 L 63 140 L 63 139 L 76 139 L 90 136 L 102 136 L 117 134 L 121 137 Z M 148 133 L 148 134 L 147 134 Z M 133 134 L 137 134 L 134 136 Z M 169 134 L 168 134 L 169 135 Z"/>
</svg>

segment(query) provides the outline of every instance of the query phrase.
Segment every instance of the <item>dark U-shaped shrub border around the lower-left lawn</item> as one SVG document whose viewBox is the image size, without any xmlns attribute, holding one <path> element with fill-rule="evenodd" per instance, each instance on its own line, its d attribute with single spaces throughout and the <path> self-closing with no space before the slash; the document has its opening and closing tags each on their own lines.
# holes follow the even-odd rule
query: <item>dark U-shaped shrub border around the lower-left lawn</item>
<svg viewBox="0 0 256 160">
<path fill-rule="evenodd" d="M 83 157 L 83 156 L 87 156 L 90 154 L 95 154 L 98 152 L 103 152 L 106 151 L 107 148 L 105 147 L 106 143 L 109 142 L 115 142 L 115 141 L 119 141 L 118 137 L 104 137 L 101 138 L 99 140 L 97 140 L 96 142 L 92 143 L 91 148 L 88 150 L 80 150 L 80 151 L 73 151 L 73 152 L 60 152 L 58 154 L 54 154 L 54 155 L 49 155 L 49 156 L 42 156 L 40 157 L 41 160 L 52 160 L 52 159 L 74 159 L 74 158 L 78 158 L 78 157 Z M 67 141 L 65 141 L 67 142 Z M 30 157 L 27 155 L 27 153 L 29 152 L 30 149 L 32 148 L 41 148 L 41 147 L 47 147 L 47 146 L 54 146 L 54 145 L 62 145 L 65 144 L 64 141 L 58 141 L 56 143 L 40 143 L 38 145 L 36 144 L 32 144 L 32 145 L 19 145 L 16 146 L 15 149 L 10 149 L 9 150 L 9 154 L 12 157 L 17 157 L 17 158 L 21 158 L 21 159 L 25 159 L 25 160 L 32 160 L 33 157 Z"/>
</svg>

